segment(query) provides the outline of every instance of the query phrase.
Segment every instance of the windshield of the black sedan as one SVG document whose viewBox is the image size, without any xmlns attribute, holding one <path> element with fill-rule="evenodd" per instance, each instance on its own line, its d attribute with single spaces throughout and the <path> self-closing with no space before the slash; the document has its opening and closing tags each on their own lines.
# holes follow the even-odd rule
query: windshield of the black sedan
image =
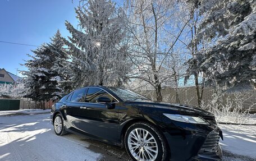
<svg viewBox="0 0 256 161">
<path fill-rule="evenodd" d="M 128 100 L 150 100 L 146 98 L 143 95 L 140 95 L 138 93 L 135 93 L 133 91 L 127 90 L 127 89 L 120 89 L 120 88 L 108 88 L 113 93 L 115 93 L 117 96 L 119 96 L 122 100 L 128 101 Z"/>
</svg>

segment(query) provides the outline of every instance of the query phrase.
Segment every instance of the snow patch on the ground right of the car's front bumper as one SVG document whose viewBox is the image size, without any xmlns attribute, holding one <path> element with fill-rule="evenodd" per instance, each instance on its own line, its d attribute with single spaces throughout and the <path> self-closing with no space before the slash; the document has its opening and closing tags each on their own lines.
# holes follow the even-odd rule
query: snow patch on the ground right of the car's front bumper
<svg viewBox="0 0 256 161">
<path fill-rule="evenodd" d="M 219 127 L 224 137 L 220 142 L 223 150 L 256 159 L 256 126 L 219 125 Z"/>
</svg>

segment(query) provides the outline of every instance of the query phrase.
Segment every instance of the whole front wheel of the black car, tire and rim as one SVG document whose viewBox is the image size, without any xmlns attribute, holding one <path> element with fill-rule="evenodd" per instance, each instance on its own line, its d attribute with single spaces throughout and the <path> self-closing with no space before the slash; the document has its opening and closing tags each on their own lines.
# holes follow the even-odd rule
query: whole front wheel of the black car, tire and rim
<svg viewBox="0 0 256 161">
<path fill-rule="evenodd" d="M 168 160 L 168 148 L 162 133 L 147 122 L 134 123 L 127 129 L 125 148 L 134 161 Z"/>
</svg>

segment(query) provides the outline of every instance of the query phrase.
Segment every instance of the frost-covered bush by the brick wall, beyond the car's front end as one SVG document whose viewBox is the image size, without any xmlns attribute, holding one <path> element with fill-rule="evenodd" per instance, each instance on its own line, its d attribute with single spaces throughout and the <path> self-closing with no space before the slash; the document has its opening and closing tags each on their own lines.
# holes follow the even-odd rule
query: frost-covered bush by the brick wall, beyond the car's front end
<svg viewBox="0 0 256 161">
<path fill-rule="evenodd" d="M 252 124 L 255 123 L 252 119 L 255 114 L 250 114 L 250 111 L 256 103 L 250 102 L 249 108 L 244 108 L 245 102 L 251 98 L 252 95 L 248 93 L 235 93 L 222 100 L 222 94 L 214 94 L 211 101 L 202 102 L 202 108 L 212 112 L 218 122 Z"/>
</svg>

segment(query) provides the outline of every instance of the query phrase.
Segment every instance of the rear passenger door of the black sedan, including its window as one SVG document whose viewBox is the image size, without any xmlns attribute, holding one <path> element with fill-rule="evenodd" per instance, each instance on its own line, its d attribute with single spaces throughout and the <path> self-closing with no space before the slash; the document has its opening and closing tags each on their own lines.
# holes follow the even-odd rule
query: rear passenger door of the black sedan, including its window
<svg viewBox="0 0 256 161">
<path fill-rule="evenodd" d="M 71 98 L 67 98 L 66 103 L 66 118 L 67 118 L 67 128 L 71 130 L 77 130 L 80 128 L 79 117 L 80 117 L 80 107 L 81 103 L 85 99 L 86 88 L 75 90 L 72 93 Z"/>
</svg>

